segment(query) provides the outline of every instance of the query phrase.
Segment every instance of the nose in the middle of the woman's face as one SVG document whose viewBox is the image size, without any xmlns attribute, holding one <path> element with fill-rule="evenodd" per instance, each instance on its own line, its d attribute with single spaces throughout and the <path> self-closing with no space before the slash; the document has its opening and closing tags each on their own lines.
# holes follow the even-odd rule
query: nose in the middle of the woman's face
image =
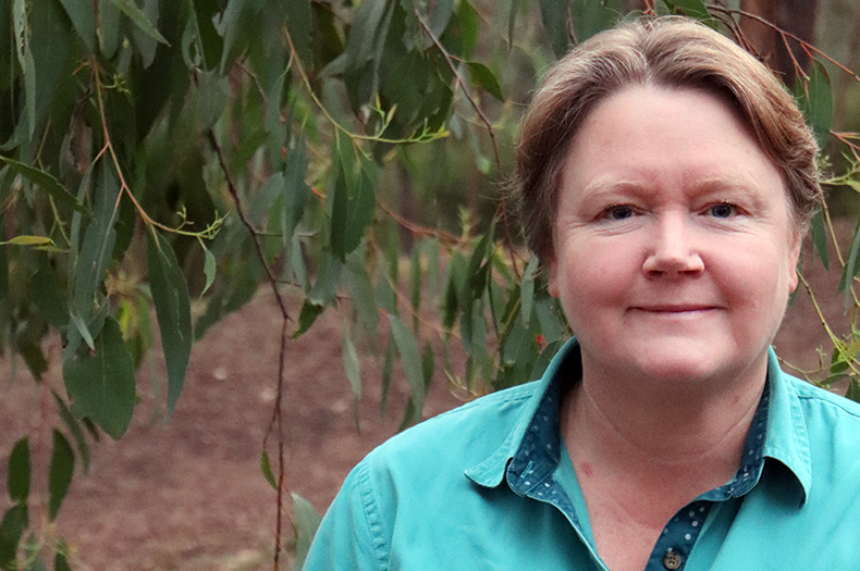
<svg viewBox="0 0 860 571">
<path fill-rule="evenodd" d="M 695 276 L 704 271 L 696 231 L 680 212 L 656 216 L 642 271 L 649 277 Z"/>
</svg>

